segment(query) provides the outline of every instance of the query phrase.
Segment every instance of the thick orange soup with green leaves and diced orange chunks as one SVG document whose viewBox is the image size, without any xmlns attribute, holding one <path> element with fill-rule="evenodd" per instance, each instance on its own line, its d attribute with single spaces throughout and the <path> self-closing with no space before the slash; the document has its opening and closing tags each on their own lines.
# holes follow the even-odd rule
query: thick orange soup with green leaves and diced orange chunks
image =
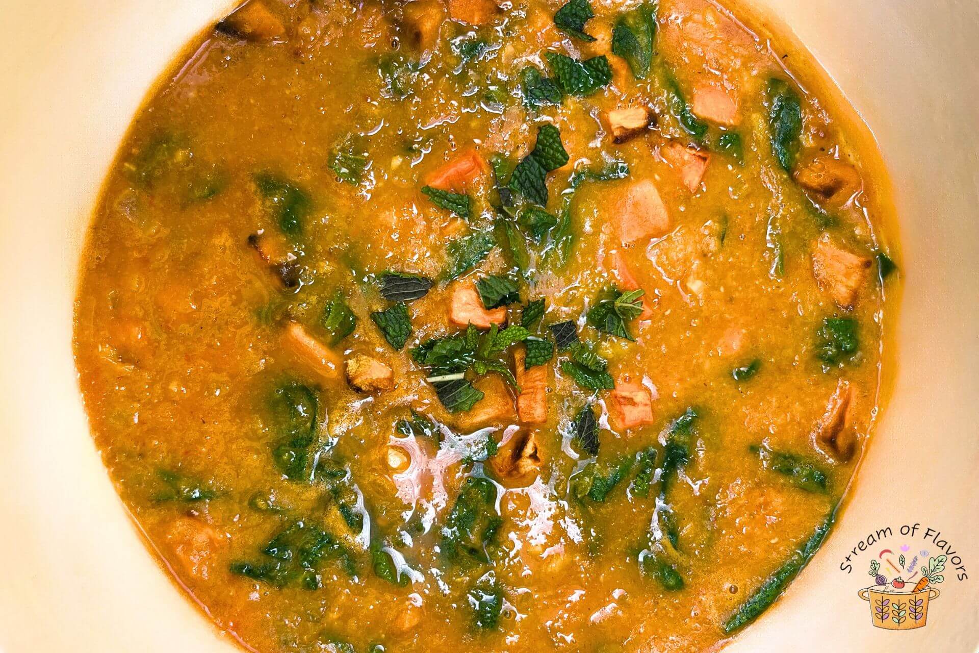
<svg viewBox="0 0 979 653">
<path fill-rule="evenodd" d="M 251 0 L 187 51 L 106 182 L 75 351 L 221 629 L 697 651 L 792 581 L 899 274 L 876 155 L 741 19 Z"/>
</svg>

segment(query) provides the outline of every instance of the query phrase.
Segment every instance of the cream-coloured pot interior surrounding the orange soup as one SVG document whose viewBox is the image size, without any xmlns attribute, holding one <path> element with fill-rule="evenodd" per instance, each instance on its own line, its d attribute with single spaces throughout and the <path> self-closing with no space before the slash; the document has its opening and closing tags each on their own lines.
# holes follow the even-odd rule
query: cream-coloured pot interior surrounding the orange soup
<svg viewBox="0 0 979 653">
<path fill-rule="evenodd" d="M 228 4 L 0 0 L 0 651 L 235 650 L 129 521 L 89 438 L 70 345 L 80 248 L 119 140 L 158 74 Z M 753 4 L 794 30 L 876 136 L 905 295 L 897 382 L 857 491 L 802 577 L 728 650 L 974 651 L 979 3 Z M 972 578 L 947 569 L 925 628 L 872 628 L 856 595 L 872 555 L 857 551 L 852 574 L 841 563 L 877 529 L 914 523 L 914 546 L 940 530 Z"/>
</svg>

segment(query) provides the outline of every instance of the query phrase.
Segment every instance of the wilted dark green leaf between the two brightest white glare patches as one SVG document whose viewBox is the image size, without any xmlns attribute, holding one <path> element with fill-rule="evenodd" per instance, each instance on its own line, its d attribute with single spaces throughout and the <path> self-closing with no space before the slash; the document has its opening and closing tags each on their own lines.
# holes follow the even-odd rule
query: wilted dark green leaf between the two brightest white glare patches
<svg viewBox="0 0 979 653">
<path fill-rule="evenodd" d="M 462 484 L 442 529 L 442 552 L 449 559 L 468 556 L 489 563 L 489 545 L 503 519 L 496 514 L 496 487 L 470 477 Z"/>
</svg>

